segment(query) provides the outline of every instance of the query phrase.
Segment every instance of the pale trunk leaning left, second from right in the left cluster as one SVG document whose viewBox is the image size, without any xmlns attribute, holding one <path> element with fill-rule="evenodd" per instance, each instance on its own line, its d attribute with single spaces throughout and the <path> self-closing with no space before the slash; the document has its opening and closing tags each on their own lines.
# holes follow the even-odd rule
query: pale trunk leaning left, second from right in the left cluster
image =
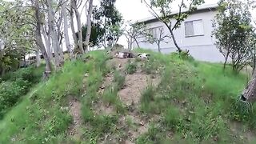
<svg viewBox="0 0 256 144">
<path fill-rule="evenodd" d="M 80 13 L 78 12 L 78 7 L 76 6 L 76 1 L 72 0 L 71 2 L 72 8 L 74 9 L 74 14 L 77 19 L 77 24 L 78 24 L 78 47 L 79 50 L 81 50 L 81 53 L 84 54 L 85 51 L 83 50 L 82 47 L 82 24 L 81 24 L 81 16 Z"/>
</svg>

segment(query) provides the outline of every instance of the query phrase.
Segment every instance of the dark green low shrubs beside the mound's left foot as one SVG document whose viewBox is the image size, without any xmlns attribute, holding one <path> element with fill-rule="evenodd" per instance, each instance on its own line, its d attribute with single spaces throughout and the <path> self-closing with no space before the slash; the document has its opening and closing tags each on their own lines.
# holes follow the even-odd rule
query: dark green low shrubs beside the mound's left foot
<svg viewBox="0 0 256 144">
<path fill-rule="evenodd" d="M 30 66 L 15 72 L 10 72 L 1 78 L 0 82 L 0 119 L 18 99 L 25 95 L 33 84 L 40 82 L 43 67 Z"/>
</svg>

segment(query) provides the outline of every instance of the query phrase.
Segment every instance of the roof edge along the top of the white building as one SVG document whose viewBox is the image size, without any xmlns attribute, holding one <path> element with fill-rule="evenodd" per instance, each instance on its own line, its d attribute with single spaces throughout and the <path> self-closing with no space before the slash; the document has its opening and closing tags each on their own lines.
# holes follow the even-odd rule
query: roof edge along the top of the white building
<svg viewBox="0 0 256 144">
<path fill-rule="evenodd" d="M 196 12 L 202 12 L 204 10 L 216 10 L 218 7 L 218 4 L 217 3 L 214 3 L 214 4 L 202 4 L 200 6 L 197 7 L 197 10 Z M 188 9 L 184 9 L 182 10 L 182 12 L 186 12 Z M 174 12 L 172 12 L 172 14 L 178 14 L 178 10 L 175 10 Z M 152 21 L 155 21 L 157 20 L 157 18 L 155 18 L 154 16 L 151 16 L 149 18 L 143 18 L 143 19 L 140 19 L 138 21 L 134 21 L 133 24 L 135 23 L 142 23 L 142 22 L 145 22 L 145 23 L 148 23 L 148 22 L 152 22 Z"/>
</svg>

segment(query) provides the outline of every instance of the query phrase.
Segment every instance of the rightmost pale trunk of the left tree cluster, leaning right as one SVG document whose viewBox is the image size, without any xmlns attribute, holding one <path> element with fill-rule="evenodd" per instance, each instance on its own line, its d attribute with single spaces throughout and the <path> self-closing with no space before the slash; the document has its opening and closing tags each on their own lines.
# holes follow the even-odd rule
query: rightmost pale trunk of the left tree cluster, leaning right
<svg viewBox="0 0 256 144">
<path fill-rule="evenodd" d="M 91 33 L 91 14 L 93 12 L 93 1 L 89 1 L 89 10 L 87 15 L 87 31 L 86 31 L 86 51 L 89 49 L 90 33 Z"/>
</svg>

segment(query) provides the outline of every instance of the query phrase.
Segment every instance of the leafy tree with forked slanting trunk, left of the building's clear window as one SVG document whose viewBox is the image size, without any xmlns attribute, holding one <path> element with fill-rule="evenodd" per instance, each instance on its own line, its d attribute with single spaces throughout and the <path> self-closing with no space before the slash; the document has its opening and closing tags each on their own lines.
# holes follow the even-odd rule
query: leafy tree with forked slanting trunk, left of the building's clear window
<svg viewBox="0 0 256 144">
<path fill-rule="evenodd" d="M 189 16 L 190 13 L 196 10 L 198 5 L 204 3 L 204 0 L 142 0 L 146 3 L 146 6 L 149 8 L 150 13 L 158 18 L 170 31 L 171 38 L 174 42 L 179 53 L 182 52 L 182 49 L 178 46 L 176 38 L 174 36 L 174 30 L 181 26 L 182 22 Z M 174 3 L 178 2 L 178 13 L 173 14 L 172 10 L 174 8 Z M 182 12 L 182 9 L 187 9 L 186 12 Z M 174 22 L 172 20 L 175 20 Z"/>
</svg>

